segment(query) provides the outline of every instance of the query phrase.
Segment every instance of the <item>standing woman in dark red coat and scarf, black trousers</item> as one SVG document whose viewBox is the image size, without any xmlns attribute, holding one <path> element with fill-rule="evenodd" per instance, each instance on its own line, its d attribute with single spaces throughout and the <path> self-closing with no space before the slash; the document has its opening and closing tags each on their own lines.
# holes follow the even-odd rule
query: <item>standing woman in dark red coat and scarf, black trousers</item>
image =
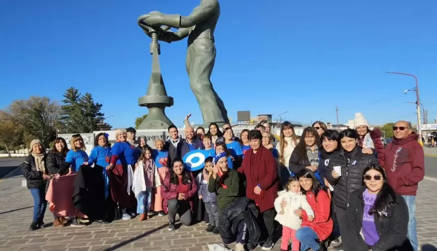
<svg viewBox="0 0 437 251">
<path fill-rule="evenodd" d="M 275 223 L 275 199 L 278 197 L 278 169 L 272 151 L 261 145 L 259 130 L 249 131 L 250 150 L 244 153 L 243 163 L 238 169 L 246 176 L 246 197 L 255 201 L 268 236 L 263 250 L 273 248 L 273 229 Z"/>
</svg>

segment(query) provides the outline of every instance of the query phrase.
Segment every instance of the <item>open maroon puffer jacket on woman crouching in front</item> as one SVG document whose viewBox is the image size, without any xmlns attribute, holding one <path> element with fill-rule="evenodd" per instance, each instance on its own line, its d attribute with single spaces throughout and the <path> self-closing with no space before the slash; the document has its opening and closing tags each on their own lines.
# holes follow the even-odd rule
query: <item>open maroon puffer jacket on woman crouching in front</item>
<svg viewBox="0 0 437 251">
<path fill-rule="evenodd" d="M 186 200 L 190 201 L 191 212 L 193 212 L 194 206 L 193 206 L 192 197 L 194 195 L 197 195 L 197 183 L 196 180 L 194 179 L 193 174 L 191 172 L 189 172 L 189 174 L 190 174 L 191 181 L 188 184 L 189 190 L 184 197 L 186 198 Z M 178 187 L 177 185 L 170 184 L 170 173 L 167 173 L 167 175 L 164 178 L 164 181 L 161 184 L 162 210 L 166 214 L 168 213 L 168 208 L 167 208 L 168 200 L 177 199 L 178 197 L 178 192 L 176 191 L 177 187 Z"/>
</svg>

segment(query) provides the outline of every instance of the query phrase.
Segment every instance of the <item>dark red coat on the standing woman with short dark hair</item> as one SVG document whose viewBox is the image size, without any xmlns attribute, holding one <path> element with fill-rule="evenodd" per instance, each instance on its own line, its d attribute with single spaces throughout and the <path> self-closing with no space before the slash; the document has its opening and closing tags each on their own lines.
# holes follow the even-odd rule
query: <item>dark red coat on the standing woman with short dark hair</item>
<svg viewBox="0 0 437 251">
<path fill-rule="evenodd" d="M 261 146 L 256 154 L 253 150 L 244 153 L 243 163 L 238 172 L 246 176 L 246 197 L 255 201 L 260 213 L 275 207 L 278 197 L 278 171 L 272 151 Z M 260 194 L 255 194 L 253 189 L 259 186 Z"/>
</svg>

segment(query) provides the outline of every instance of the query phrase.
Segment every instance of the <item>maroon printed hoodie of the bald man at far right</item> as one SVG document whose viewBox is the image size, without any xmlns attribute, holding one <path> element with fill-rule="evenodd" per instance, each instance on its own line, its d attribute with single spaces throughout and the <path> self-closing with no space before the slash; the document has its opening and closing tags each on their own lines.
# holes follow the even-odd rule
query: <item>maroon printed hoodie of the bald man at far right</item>
<svg viewBox="0 0 437 251">
<path fill-rule="evenodd" d="M 417 185 L 425 176 L 423 147 L 417 134 L 396 139 L 385 148 L 385 172 L 388 184 L 399 195 L 416 195 Z"/>
</svg>

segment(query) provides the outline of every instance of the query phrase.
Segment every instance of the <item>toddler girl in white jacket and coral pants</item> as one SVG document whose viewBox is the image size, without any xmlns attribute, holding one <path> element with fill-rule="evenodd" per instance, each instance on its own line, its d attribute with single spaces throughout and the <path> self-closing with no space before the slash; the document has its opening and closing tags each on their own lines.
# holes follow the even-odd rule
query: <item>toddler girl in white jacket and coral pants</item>
<svg viewBox="0 0 437 251">
<path fill-rule="evenodd" d="M 305 195 L 300 192 L 300 183 L 296 177 L 291 177 L 286 190 L 278 192 L 278 197 L 275 200 L 275 209 L 278 214 L 275 217 L 282 225 L 282 241 L 281 251 L 287 251 L 289 241 L 291 240 L 291 250 L 299 251 L 299 241 L 296 239 L 296 230 L 300 228 L 302 219 L 297 216 L 294 211 L 298 209 L 305 210 L 308 215 L 308 220 L 314 220 L 314 211 L 306 201 Z M 287 202 L 285 207 L 281 206 L 283 201 Z"/>
</svg>

